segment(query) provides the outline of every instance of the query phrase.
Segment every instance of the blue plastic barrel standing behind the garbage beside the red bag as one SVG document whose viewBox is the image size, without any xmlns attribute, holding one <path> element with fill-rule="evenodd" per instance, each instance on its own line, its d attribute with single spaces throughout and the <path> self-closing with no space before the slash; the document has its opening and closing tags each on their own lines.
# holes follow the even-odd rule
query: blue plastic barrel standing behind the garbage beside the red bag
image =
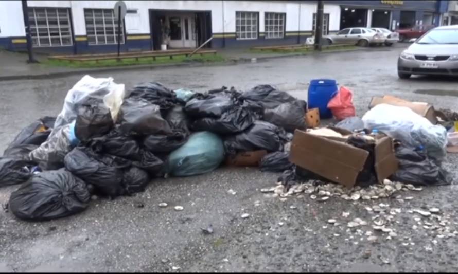
<svg viewBox="0 0 458 274">
<path fill-rule="evenodd" d="M 318 107 L 320 119 L 332 118 L 328 103 L 337 93 L 337 82 L 331 79 L 315 79 L 310 81 L 308 90 L 308 108 Z"/>
</svg>

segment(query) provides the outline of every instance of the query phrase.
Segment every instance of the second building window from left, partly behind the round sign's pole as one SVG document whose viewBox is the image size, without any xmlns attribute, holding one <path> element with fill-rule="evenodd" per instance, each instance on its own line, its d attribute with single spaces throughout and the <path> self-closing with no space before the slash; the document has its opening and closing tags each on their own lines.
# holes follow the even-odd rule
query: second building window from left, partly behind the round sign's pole
<svg viewBox="0 0 458 274">
<path fill-rule="evenodd" d="M 87 43 L 107 45 L 118 43 L 118 20 L 113 9 L 84 9 Z M 121 44 L 124 43 L 124 20 L 121 20 Z"/>
</svg>

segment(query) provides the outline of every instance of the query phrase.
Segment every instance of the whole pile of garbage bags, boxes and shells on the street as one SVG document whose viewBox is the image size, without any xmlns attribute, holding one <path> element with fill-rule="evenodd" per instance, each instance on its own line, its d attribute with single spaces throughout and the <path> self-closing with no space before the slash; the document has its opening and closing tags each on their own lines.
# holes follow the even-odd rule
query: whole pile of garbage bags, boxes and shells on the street
<svg viewBox="0 0 458 274">
<path fill-rule="evenodd" d="M 10 143 L 0 186 L 22 184 L 11 212 L 41 221 L 85 210 L 92 195 L 132 195 L 153 178 L 222 163 L 283 172 L 279 186 L 262 190 L 282 198 L 374 199 L 450 184 L 440 163 L 455 139 L 431 122 L 432 106 L 374 98 L 359 118 L 351 91 L 332 88 L 315 108 L 310 90 L 308 105 L 271 85 L 196 93 L 145 82 L 126 91 L 112 78 L 84 76 L 57 117 L 32 122 Z M 340 122 L 318 127 L 329 115 Z"/>
</svg>

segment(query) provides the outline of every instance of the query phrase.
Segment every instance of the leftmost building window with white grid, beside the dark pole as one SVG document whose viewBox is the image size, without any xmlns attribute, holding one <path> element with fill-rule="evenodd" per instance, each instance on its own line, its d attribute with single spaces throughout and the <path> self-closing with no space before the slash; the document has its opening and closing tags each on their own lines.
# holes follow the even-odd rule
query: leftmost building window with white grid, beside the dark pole
<svg viewBox="0 0 458 274">
<path fill-rule="evenodd" d="M 71 46 L 70 10 L 29 8 L 30 36 L 34 47 Z"/>
</svg>

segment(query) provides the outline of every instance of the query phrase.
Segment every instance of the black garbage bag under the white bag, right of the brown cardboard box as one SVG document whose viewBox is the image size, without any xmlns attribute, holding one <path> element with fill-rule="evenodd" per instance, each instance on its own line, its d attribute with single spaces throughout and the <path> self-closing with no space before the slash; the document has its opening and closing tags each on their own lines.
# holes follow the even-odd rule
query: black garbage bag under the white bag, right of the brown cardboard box
<svg viewBox="0 0 458 274">
<path fill-rule="evenodd" d="M 417 186 L 450 185 L 453 181 L 451 175 L 429 158 L 426 152 L 399 146 L 396 148 L 396 158 L 399 168 L 390 177 L 391 180 Z"/>
</svg>

